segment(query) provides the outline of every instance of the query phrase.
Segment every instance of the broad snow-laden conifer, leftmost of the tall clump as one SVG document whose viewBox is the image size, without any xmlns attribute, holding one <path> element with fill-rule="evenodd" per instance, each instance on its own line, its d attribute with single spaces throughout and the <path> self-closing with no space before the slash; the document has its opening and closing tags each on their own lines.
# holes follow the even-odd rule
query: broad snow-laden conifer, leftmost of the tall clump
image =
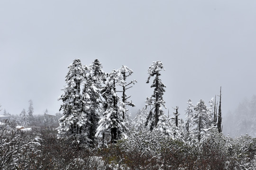
<svg viewBox="0 0 256 170">
<path fill-rule="evenodd" d="M 80 59 L 74 59 L 68 68 L 64 93 L 59 98 L 63 102 L 60 108 L 63 116 L 59 119 L 58 137 L 71 139 L 76 144 L 87 143 L 87 116 L 82 107 L 81 92 L 85 71 Z"/>
</svg>

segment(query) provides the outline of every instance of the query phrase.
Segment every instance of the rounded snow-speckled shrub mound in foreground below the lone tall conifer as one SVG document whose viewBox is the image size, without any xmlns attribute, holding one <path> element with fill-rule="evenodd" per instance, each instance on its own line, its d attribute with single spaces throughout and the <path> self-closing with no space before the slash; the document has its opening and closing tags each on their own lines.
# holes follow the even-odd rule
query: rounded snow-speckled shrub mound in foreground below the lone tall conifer
<svg viewBox="0 0 256 170">
<path fill-rule="evenodd" d="M 125 153 L 126 162 L 133 166 L 132 169 L 136 164 L 137 168 L 157 170 L 192 167 L 198 154 L 195 147 L 158 130 L 132 132 L 127 139 L 120 140 L 118 146 Z"/>
</svg>

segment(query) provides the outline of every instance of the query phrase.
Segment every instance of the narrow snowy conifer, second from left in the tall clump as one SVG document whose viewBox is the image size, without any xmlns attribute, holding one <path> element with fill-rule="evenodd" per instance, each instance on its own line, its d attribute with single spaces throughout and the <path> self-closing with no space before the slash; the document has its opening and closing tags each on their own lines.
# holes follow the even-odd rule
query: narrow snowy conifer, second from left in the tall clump
<svg viewBox="0 0 256 170">
<path fill-rule="evenodd" d="M 84 68 L 87 73 L 83 82 L 82 101 L 84 111 L 88 117 L 88 138 L 90 139 L 90 144 L 93 146 L 95 144 L 96 129 L 100 120 L 100 105 L 102 103 L 100 93 L 104 71 L 98 59 L 95 59 L 89 67 L 84 66 Z"/>
</svg>

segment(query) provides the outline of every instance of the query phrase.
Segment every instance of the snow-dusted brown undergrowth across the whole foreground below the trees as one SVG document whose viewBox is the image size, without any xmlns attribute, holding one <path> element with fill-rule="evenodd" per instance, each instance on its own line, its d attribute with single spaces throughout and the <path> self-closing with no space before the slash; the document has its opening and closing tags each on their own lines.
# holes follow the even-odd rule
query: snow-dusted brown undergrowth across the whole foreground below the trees
<svg viewBox="0 0 256 170">
<path fill-rule="evenodd" d="M 131 132 L 108 147 L 87 149 L 57 139 L 55 130 L 0 128 L 1 170 L 255 170 L 256 138 L 212 129 L 200 143 L 157 131 Z"/>
</svg>

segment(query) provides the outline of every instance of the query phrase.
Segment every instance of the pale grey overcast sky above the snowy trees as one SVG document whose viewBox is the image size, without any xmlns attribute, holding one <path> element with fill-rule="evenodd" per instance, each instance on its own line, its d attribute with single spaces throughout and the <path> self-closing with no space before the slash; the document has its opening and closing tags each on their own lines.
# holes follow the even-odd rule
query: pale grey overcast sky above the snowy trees
<svg viewBox="0 0 256 170">
<path fill-rule="evenodd" d="M 225 114 L 256 94 L 256 0 L 0 0 L 2 109 L 19 114 L 31 99 L 35 114 L 58 112 L 76 58 L 131 68 L 134 112 L 161 60 L 167 108 L 183 115 L 189 98 L 208 103 L 222 86 Z"/>
</svg>

